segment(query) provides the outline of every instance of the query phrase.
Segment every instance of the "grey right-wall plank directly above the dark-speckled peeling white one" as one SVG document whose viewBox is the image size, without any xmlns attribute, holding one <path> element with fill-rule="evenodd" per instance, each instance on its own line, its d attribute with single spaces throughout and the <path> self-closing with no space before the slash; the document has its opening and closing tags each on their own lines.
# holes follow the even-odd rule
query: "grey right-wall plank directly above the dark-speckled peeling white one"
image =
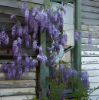
<svg viewBox="0 0 99 100">
<path fill-rule="evenodd" d="M 81 49 L 82 49 L 82 51 L 83 50 L 99 51 L 99 46 L 98 45 L 82 44 Z"/>
</svg>

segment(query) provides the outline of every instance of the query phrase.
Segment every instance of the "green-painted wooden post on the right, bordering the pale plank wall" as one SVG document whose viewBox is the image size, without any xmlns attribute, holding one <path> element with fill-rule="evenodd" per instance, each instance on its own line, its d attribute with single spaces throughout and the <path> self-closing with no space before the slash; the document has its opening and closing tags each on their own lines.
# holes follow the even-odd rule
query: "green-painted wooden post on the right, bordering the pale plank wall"
<svg viewBox="0 0 99 100">
<path fill-rule="evenodd" d="M 75 0 L 75 30 L 81 31 L 81 0 Z M 81 71 L 81 39 L 75 41 L 75 47 L 71 50 L 72 68 Z"/>
</svg>

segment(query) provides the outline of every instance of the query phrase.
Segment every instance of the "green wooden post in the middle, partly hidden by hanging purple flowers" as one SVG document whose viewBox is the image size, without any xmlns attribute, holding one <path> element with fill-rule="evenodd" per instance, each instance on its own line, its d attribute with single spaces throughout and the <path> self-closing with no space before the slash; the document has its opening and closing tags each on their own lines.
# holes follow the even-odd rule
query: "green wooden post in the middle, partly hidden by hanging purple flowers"
<svg viewBox="0 0 99 100">
<path fill-rule="evenodd" d="M 49 7 L 50 5 L 50 0 L 45 0 L 45 9 Z M 46 35 L 47 31 L 40 33 L 40 44 L 43 48 L 43 55 L 47 55 L 47 58 L 49 59 L 49 52 L 46 52 L 46 48 L 49 45 L 49 39 L 48 35 Z M 46 93 L 48 90 L 48 82 L 46 81 L 46 77 L 49 76 L 49 67 L 46 66 L 46 64 L 40 64 L 40 88 L 41 91 L 39 92 L 39 97 L 46 97 Z"/>
</svg>

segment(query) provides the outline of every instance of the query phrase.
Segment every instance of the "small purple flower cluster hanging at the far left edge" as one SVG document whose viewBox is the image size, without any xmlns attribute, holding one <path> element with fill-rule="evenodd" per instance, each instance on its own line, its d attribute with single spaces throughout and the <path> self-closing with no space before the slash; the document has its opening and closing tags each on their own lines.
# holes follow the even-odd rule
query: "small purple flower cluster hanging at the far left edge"
<svg viewBox="0 0 99 100">
<path fill-rule="evenodd" d="M 0 32 L 0 47 L 1 45 L 9 44 L 9 36 L 5 32 L 5 28 L 2 26 L 2 31 Z"/>
</svg>

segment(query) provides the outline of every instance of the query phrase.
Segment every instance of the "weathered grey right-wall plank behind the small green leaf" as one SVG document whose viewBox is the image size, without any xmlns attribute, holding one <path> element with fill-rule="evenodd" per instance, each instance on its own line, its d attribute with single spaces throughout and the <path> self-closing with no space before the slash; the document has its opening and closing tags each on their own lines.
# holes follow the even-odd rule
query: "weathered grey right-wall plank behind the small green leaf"
<svg viewBox="0 0 99 100">
<path fill-rule="evenodd" d="M 91 25 L 82 25 L 82 31 L 87 31 L 87 28 L 90 29 L 90 33 L 95 33 L 99 31 L 99 26 L 91 26 Z"/>
</svg>

